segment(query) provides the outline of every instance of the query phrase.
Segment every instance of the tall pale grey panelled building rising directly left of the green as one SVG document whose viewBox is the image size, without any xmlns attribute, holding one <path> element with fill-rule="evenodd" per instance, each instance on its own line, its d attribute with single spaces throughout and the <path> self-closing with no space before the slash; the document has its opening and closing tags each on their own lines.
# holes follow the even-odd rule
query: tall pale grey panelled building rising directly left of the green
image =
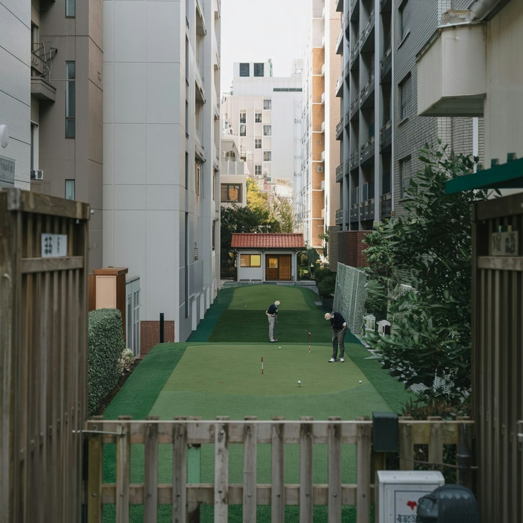
<svg viewBox="0 0 523 523">
<path fill-rule="evenodd" d="M 104 2 L 104 265 L 140 277 L 142 354 L 219 287 L 220 1 Z"/>
</svg>

